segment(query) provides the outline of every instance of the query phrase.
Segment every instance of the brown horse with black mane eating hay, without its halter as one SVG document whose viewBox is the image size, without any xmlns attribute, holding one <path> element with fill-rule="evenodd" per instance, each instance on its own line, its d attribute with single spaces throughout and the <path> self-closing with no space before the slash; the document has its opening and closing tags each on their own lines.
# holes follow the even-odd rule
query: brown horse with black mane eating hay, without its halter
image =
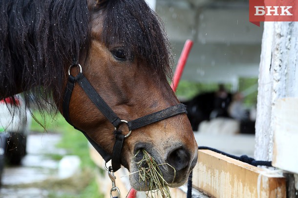
<svg viewBox="0 0 298 198">
<path fill-rule="evenodd" d="M 68 78 L 82 73 L 121 119 L 134 119 L 180 104 L 170 88 L 171 56 L 161 20 L 143 0 L 2 0 L 0 2 L 0 99 L 24 92 L 35 103 L 51 102 L 87 138 L 112 155 L 114 126 L 74 83 L 64 110 Z M 69 67 L 72 65 L 73 67 Z M 42 110 L 42 109 L 41 109 Z M 128 134 L 125 124 L 119 126 Z M 170 187 L 182 185 L 197 159 L 197 144 L 185 113 L 132 130 L 120 163 L 136 171 L 145 149 Z M 130 175 L 136 190 L 149 190 Z"/>
</svg>

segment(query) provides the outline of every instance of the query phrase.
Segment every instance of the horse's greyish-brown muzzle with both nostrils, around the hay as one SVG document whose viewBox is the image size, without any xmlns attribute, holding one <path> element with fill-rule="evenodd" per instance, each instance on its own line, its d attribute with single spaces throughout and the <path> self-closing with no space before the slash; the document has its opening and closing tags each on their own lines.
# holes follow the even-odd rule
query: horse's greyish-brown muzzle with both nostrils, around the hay
<svg viewBox="0 0 298 198">
<path fill-rule="evenodd" d="M 169 187 L 181 186 L 188 179 L 190 172 L 197 162 L 197 150 L 189 150 L 181 143 L 171 144 L 162 149 L 158 148 L 158 146 L 153 146 L 153 144 L 150 143 L 138 143 L 135 145 L 135 155 L 130 162 L 130 172 L 136 173 L 131 174 L 129 177 L 130 184 L 134 189 L 138 191 L 156 189 L 156 186 L 152 186 L 150 180 L 142 180 L 141 178 L 143 176 L 138 174 L 140 162 L 144 159 L 143 149 L 146 150 L 158 164 L 162 178 Z M 148 168 L 149 170 L 146 163 L 143 163 L 141 167 L 145 169 Z"/>
</svg>

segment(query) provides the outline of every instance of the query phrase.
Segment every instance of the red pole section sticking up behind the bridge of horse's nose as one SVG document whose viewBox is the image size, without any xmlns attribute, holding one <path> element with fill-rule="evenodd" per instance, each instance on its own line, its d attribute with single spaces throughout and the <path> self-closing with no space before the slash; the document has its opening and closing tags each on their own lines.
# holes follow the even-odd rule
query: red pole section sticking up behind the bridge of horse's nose
<svg viewBox="0 0 298 198">
<path fill-rule="evenodd" d="M 188 55 L 190 54 L 190 51 L 192 49 L 192 44 L 193 44 L 192 40 L 188 39 L 185 41 L 183 50 L 179 57 L 178 64 L 177 64 L 177 67 L 176 67 L 176 70 L 175 70 L 175 73 L 173 76 L 172 84 L 170 85 L 170 87 L 172 88 L 172 90 L 174 92 L 176 91 L 176 89 L 178 87 L 184 66 L 185 66 L 187 58 L 188 58 Z"/>
</svg>

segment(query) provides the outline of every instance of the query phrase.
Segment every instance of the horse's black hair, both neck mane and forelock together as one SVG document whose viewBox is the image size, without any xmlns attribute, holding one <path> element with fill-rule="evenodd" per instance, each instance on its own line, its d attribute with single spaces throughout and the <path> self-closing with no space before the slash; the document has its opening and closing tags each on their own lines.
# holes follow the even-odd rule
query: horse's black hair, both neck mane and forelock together
<svg viewBox="0 0 298 198">
<path fill-rule="evenodd" d="M 29 93 L 40 105 L 54 91 L 63 93 L 65 64 L 88 56 L 91 17 L 103 20 L 107 47 L 123 44 L 128 56 L 169 74 L 169 41 L 143 0 L 107 0 L 91 11 L 86 0 L 1 0 L 0 99 L 25 91 L 27 105 Z"/>
</svg>

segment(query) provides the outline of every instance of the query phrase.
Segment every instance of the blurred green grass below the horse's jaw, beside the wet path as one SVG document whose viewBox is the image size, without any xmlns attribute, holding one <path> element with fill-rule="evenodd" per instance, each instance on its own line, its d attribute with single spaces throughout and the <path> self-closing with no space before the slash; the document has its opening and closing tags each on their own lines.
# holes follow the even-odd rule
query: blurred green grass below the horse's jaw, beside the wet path
<svg viewBox="0 0 298 198">
<path fill-rule="evenodd" d="M 31 131 L 41 133 L 61 133 L 62 140 L 56 146 L 59 148 L 64 148 L 67 151 L 68 155 L 79 156 L 82 161 L 81 166 L 83 169 L 83 173 L 86 170 L 95 171 L 96 166 L 89 155 L 88 141 L 80 131 L 74 129 L 73 126 L 70 126 L 60 113 L 52 118 L 49 113 L 44 113 L 43 117 L 40 112 L 35 111 L 34 116 L 38 120 L 38 122 L 40 122 L 45 127 L 41 126 L 37 121 L 33 119 Z M 50 157 L 54 160 L 60 160 L 63 156 L 51 155 Z M 95 174 L 91 174 L 91 176 L 86 175 L 88 181 L 85 182 L 85 188 L 83 188 L 83 190 L 80 190 L 80 192 L 76 192 L 76 195 L 72 193 L 64 193 L 63 191 L 61 192 L 58 190 L 57 192 L 51 192 L 49 198 L 102 198 L 103 196 L 99 195 L 98 186 L 95 181 L 94 175 Z M 61 186 L 61 188 L 63 188 L 63 186 Z"/>
</svg>

